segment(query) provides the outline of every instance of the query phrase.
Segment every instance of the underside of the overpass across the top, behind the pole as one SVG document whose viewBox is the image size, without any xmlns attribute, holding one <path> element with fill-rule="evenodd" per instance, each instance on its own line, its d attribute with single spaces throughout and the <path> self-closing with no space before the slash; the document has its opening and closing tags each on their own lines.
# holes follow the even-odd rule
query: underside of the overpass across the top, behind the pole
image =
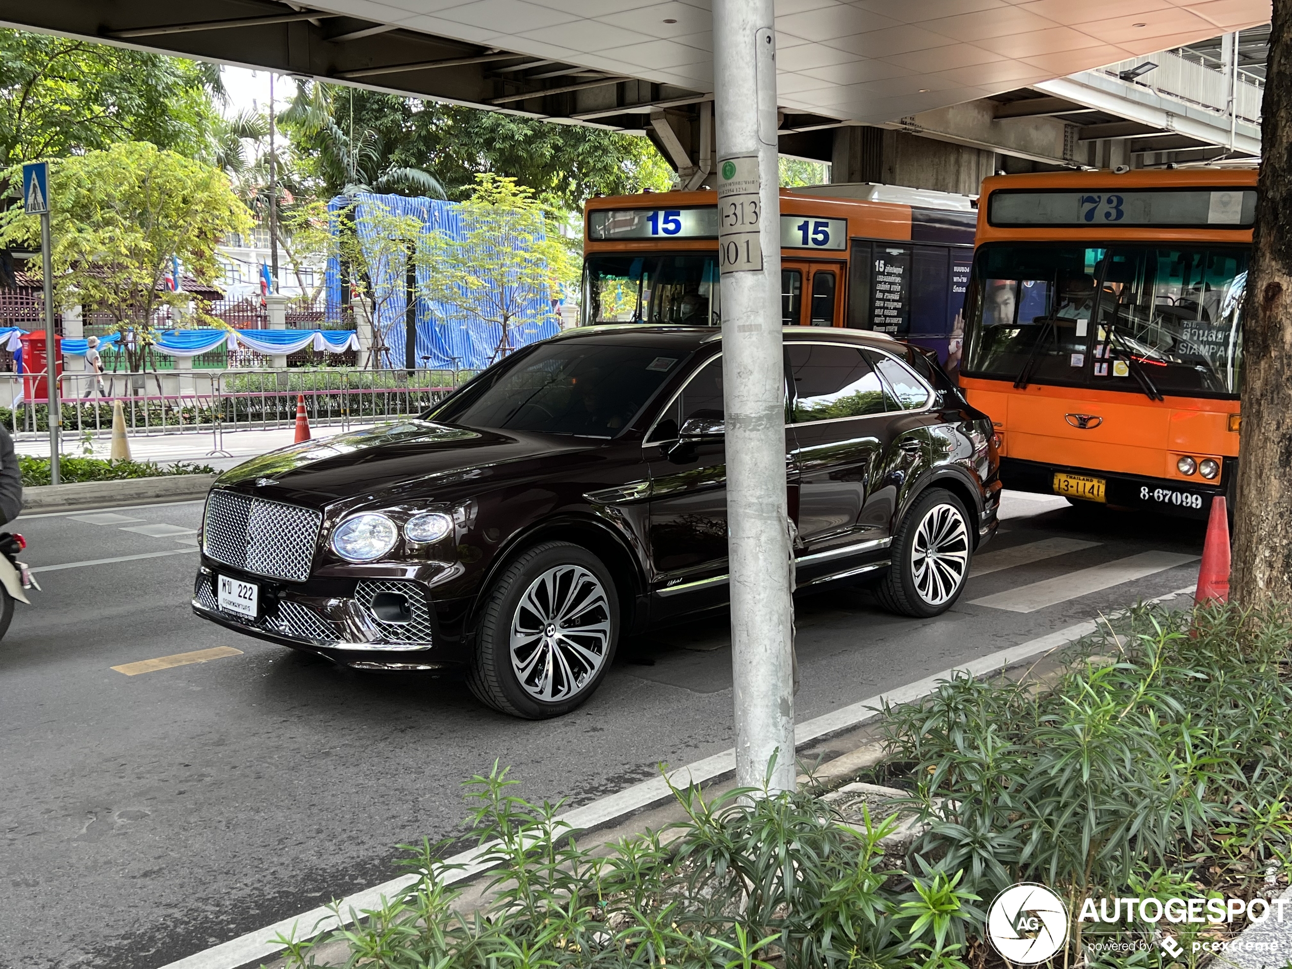
<svg viewBox="0 0 1292 969">
<path fill-rule="evenodd" d="M 1269 0 L 778 0 L 792 132 L 881 124 L 1264 23 Z M 12 26 L 646 129 L 712 89 L 704 0 L 0 0 Z"/>
</svg>

